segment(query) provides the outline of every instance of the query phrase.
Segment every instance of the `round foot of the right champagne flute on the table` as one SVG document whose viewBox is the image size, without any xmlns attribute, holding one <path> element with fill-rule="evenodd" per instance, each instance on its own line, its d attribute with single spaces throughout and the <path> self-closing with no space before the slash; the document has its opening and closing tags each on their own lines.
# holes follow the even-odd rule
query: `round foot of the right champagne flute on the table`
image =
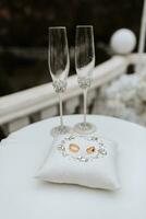
<svg viewBox="0 0 146 219">
<path fill-rule="evenodd" d="M 96 126 L 90 123 L 80 123 L 74 126 L 74 131 L 81 135 L 88 135 L 96 131 Z"/>
</svg>

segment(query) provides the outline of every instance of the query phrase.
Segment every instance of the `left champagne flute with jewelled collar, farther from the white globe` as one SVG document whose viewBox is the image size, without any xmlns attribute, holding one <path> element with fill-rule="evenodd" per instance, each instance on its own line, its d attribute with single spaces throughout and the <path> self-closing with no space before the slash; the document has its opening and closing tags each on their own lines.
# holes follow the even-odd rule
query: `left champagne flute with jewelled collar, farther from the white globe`
<svg viewBox="0 0 146 219">
<path fill-rule="evenodd" d="M 70 127 L 63 125 L 62 94 L 66 90 L 66 79 L 70 69 L 66 28 L 64 26 L 49 27 L 48 65 L 52 85 L 59 95 L 60 126 L 51 130 L 52 136 L 66 134 Z"/>
</svg>

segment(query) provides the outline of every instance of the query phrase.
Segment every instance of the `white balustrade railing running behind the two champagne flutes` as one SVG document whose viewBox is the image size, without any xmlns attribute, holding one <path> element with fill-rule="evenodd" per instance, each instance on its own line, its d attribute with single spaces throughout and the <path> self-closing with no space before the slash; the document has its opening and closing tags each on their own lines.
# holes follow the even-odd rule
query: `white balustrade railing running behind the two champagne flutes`
<svg viewBox="0 0 146 219">
<path fill-rule="evenodd" d="M 92 88 L 88 92 L 88 108 L 97 96 L 98 89 L 108 81 L 124 73 L 132 58 L 114 56 L 97 66 L 93 72 Z M 129 61 L 130 60 L 130 61 Z M 63 96 L 64 113 L 80 113 L 82 110 L 82 90 L 76 76 L 69 77 L 68 91 Z M 58 115 L 58 95 L 52 84 L 35 87 L 25 91 L 0 97 L 0 127 L 5 135 L 33 122 Z"/>
</svg>

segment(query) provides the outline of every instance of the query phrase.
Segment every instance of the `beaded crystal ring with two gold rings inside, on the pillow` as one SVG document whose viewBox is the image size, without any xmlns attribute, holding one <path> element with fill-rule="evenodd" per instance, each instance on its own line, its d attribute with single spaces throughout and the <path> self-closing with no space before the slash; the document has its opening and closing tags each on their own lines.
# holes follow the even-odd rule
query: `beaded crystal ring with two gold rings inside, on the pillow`
<svg viewBox="0 0 146 219">
<path fill-rule="evenodd" d="M 107 155 L 106 141 L 104 138 L 95 135 L 70 135 L 61 140 L 57 149 L 62 157 L 80 162 L 94 161 Z"/>
</svg>

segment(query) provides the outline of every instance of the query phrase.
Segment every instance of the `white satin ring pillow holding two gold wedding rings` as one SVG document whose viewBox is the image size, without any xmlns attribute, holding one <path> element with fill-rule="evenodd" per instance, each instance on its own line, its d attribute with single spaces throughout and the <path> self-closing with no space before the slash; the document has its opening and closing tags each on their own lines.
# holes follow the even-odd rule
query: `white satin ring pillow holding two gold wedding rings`
<svg viewBox="0 0 146 219">
<path fill-rule="evenodd" d="M 36 177 L 53 183 L 118 189 L 118 147 L 99 137 L 62 135 L 54 139 Z"/>
</svg>

